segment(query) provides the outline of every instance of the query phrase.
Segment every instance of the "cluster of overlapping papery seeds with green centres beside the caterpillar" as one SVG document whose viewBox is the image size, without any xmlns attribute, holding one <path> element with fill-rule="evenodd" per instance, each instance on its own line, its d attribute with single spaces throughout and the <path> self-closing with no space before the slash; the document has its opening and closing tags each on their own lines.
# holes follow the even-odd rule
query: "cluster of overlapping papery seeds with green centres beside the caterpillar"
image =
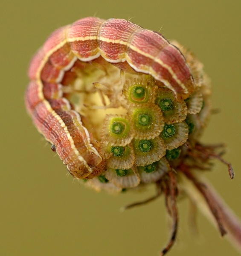
<svg viewBox="0 0 241 256">
<path fill-rule="evenodd" d="M 195 79 L 203 77 L 195 57 L 191 63 L 191 71 L 196 68 Z M 119 89 L 121 103 L 116 108 L 125 111 L 107 114 L 100 133 L 100 153 L 107 160 L 105 172 L 86 184 L 99 190 L 98 183 L 103 183 L 102 189 L 109 190 L 112 183 L 118 192 L 156 182 L 170 171 L 185 156 L 186 143 L 198 139 L 211 111 L 207 80 L 197 81 L 187 99 L 177 99 L 151 76 L 129 75 Z"/>
</svg>

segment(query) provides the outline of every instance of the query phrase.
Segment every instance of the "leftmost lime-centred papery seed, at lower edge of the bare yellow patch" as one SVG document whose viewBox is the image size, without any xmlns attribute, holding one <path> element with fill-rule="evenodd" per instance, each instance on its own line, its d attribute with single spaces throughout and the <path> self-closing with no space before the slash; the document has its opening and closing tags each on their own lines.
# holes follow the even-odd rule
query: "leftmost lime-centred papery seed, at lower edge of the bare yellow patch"
<svg viewBox="0 0 241 256">
<path fill-rule="evenodd" d="M 131 120 L 127 116 L 106 115 L 101 137 L 104 144 L 127 145 L 134 137 Z"/>
</svg>

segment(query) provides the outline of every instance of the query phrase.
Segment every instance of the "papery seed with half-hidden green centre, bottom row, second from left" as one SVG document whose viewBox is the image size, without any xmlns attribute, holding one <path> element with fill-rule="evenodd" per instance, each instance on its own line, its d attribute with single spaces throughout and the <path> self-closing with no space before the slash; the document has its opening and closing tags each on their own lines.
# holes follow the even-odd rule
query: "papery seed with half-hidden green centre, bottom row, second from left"
<svg viewBox="0 0 241 256">
<path fill-rule="evenodd" d="M 134 167 L 128 170 L 108 168 L 105 176 L 110 182 L 120 188 L 134 188 L 140 183 L 140 177 L 134 171 Z"/>
</svg>

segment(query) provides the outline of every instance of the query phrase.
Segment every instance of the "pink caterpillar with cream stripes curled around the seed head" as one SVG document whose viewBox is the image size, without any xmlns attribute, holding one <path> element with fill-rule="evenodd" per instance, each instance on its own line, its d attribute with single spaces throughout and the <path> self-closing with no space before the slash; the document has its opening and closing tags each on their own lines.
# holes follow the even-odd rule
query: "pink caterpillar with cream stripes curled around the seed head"
<svg viewBox="0 0 241 256">
<path fill-rule="evenodd" d="M 83 125 L 84 116 L 67 99 L 64 81 L 71 80 L 70 71 L 76 67 L 85 71 L 88 65 L 108 68 L 110 64 L 125 73 L 150 75 L 178 101 L 194 91 L 182 53 L 158 32 L 122 19 L 97 17 L 83 18 L 53 32 L 31 61 L 26 107 L 38 131 L 54 145 L 76 178 L 98 176 L 106 162 L 90 129 Z"/>
</svg>

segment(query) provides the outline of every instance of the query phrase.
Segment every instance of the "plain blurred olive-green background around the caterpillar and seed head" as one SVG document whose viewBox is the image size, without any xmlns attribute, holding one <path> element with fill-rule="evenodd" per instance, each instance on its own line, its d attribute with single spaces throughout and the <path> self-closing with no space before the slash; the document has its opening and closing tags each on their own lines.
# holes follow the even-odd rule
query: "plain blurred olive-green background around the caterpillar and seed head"
<svg viewBox="0 0 241 256">
<path fill-rule="evenodd" d="M 235 179 L 216 163 L 206 174 L 241 217 L 241 1 L 240 0 L 9 0 L 0 4 L 0 255 L 157 256 L 169 239 L 163 198 L 119 209 L 154 193 L 118 196 L 84 188 L 38 134 L 26 114 L 27 68 L 46 37 L 82 17 L 132 18 L 192 49 L 212 79 L 213 115 L 203 142 L 227 144 Z M 198 212 L 199 235 L 189 228 L 188 201 L 179 204 L 177 242 L 168 255 L 239 253 Z"/>
</svg>

